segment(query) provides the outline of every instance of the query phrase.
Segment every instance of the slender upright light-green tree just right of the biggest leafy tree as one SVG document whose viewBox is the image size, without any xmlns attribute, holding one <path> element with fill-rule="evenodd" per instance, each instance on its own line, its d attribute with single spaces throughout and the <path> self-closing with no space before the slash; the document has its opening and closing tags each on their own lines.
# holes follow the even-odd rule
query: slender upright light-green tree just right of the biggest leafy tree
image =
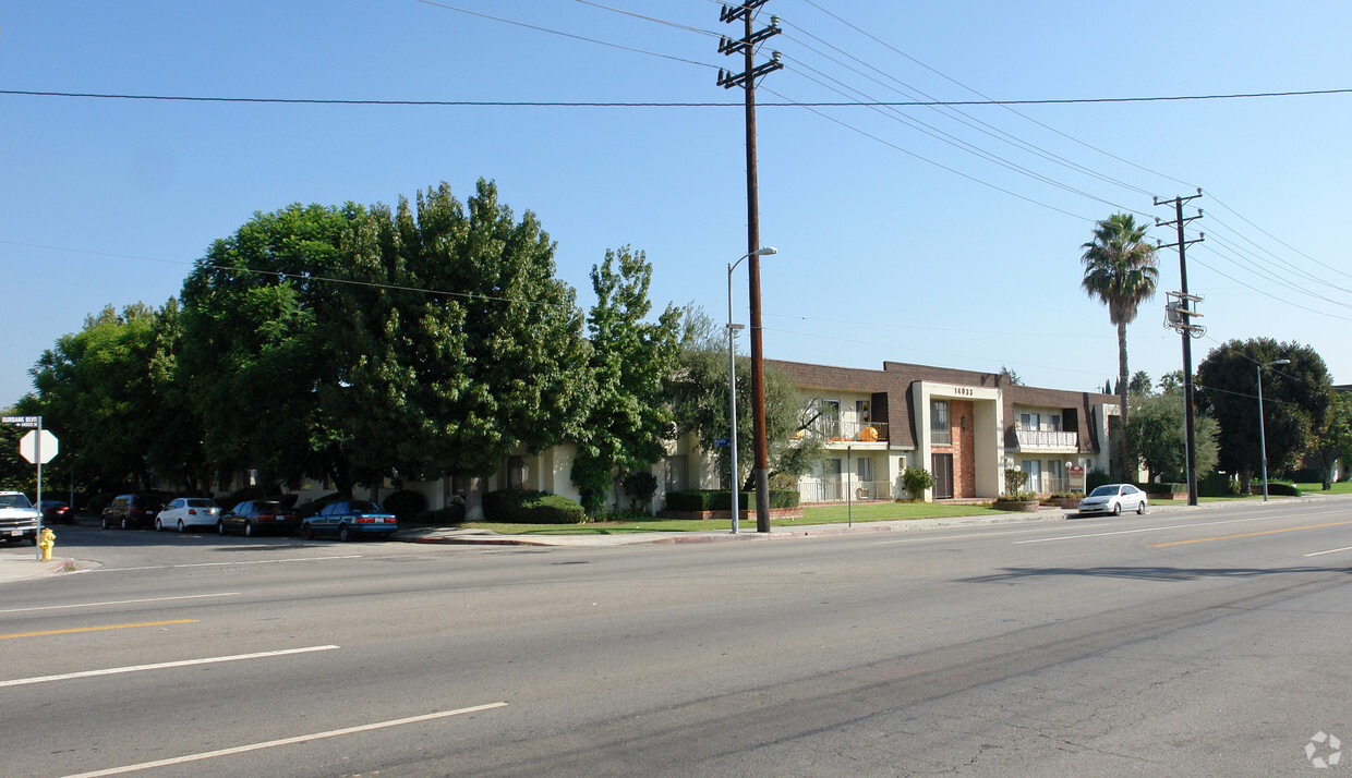
<svg viewBox="0 0 1352 778">
<path fill-rule="evenodd" d="M 592 266 L 596 304 L 587 332 L 595 392 L 571 473 L 588 513 L 602 509 L 621 471 L 646 471 L 676 436 L 664 380 L 676 369 L 680 311 L 668 305 L 656 323 L 645 321 L 652 274 L 644 253 L 627 246 Z"/>
</svg>

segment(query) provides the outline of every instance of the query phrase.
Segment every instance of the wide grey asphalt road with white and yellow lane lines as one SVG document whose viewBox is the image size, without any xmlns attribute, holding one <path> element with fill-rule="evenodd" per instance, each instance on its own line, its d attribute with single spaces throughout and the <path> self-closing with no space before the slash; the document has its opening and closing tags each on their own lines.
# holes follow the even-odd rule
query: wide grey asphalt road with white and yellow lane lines
<svg viewBox="0 0 1352 778">
<path fill-rule="evenodd" d="M 61 543 L 103 566 L 0 588 L 7 777 L 1294 775 L 1352 737 L 1352 501 L 775 543 Z"/>
</svg>

